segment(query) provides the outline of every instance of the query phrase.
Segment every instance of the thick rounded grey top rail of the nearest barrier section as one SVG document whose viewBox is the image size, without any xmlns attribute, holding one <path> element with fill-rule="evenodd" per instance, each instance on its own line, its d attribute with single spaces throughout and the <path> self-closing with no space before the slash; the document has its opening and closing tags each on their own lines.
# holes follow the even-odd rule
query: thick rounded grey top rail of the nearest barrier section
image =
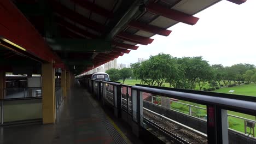
<svg viewBox="0 0 256 144">
<path fill-rule="evenodd" d="M 203 105 L 218 105 L 224 107 L 225 109 L 231 109 L 238 112 L 248 113 L 249 115 L 256 115 L 256 103 L 252 101 L 213 97 L 210 95 L 177 92 L 142 86 L 132 86 L 132 89 L 138 89 L 139 91 L 154 93 L 158 95 L 165 95 L 166 97 L 187 100 L 195 103 L 200 103 Z"/>
</svg>

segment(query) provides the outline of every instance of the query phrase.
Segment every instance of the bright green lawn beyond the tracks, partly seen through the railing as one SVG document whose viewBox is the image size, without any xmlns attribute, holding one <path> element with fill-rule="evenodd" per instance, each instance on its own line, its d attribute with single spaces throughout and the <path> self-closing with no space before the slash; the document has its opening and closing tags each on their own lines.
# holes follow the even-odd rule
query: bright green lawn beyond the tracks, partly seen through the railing
<svg viewBox="0 0 256 144">
<path fill-rule="evenodd" d="M 123 82 L 123 81 L 120 81 L 120 82 Z M 135 85 L 136 83 L 139 84 L 140 82 L 141 82 L 141 80 L 135 80 L 135 79 L 125 80 L 125 84 L 131 85 L 131 86 Z M 164 85 L 165 85 L 165 87 L 169 87 L 168 83 L 164 83 Z M 208 88 L 207 85 L 204 87 Z M 198 86 L 196 87 L 196 89 L 199 89 Z M 230 90 L 234 90 L 234 93 L 232 93 L 232 94 L 249 95 L 249 96 L 256 97 L 256 84 L 255 83 L 251 83 L 250 85 L 240 85 L 240 86 L 235 86 L 235 87 L 224 87 L 224 88 L 217 89 L 216 91 L 212 91 L 212 92 L 229 93 L 230 94 L 230 92 L 229 92 Z M 189 101 L 179 100 L 179 102 L 206 108 L 205 105 L 190 103 Z M 179 103 L 172 103 L 171 109 L 177 110 L 179 112 L 187 113 L 187 114 L 189 113 L 189 106 L 179 104 Z M 244 117 L 247 119 L 252 119 L 254 121 L 256 120 L 256 116 L 246 115 L 244 113 L 238 113 L 238 112 L 234 112 L 234 111 L 228 111 L 228 113 L 230 115 Z M 192 115 L 195 117 L 203 118 L 206 116 L 206 110 L 192 108 Z M 228 120 L 229 120 L 229 128 L 235 129 L 237 131 L 241 131 L 242 133 L 245 132 L 243 119 L 229 116 Z M 248 130 L 249 129 L 247 128 L 247 131 Z M 256 128 L 254 128 L 254 131 L 256 131 Z"/>
</svg>

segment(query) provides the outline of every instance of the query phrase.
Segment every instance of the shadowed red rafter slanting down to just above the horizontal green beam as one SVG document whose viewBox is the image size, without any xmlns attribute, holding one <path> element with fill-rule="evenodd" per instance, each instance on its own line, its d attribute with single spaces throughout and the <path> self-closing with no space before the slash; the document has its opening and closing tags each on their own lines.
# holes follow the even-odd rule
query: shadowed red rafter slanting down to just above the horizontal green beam
<svg viewBox="0 0 256 144">
<path fill-rule="evenodd" d="M 72 29 L 72 30 L 75 31 L 75 32 L 78 32 L 78 33 L 80 33 L 80 34 L 85 35 L 86 37 L 90 37 L 90 38 L 92 38 L 92 39 L 95 39 L 95 38 L 98 37 L 98 36 L 95 35 L 95 34 L 89 33 L 89 32 L 87 32 L 87 31 L 85 31 L 84 29 L 81 29 L 81 28 L 78 28 L 78 27 L 72 25 L 72 23 L 69 23 L 69 22 L 67 22 L 67 21 L 65 21 L 65 20 L 63 20 L 63 19 L 61 19 L 59 16 L 56 17 L 56 21 L 57 21 L 57 23 L 60 23 L 60 25 L 66 26 L 66 27 Z"/>
</svg>

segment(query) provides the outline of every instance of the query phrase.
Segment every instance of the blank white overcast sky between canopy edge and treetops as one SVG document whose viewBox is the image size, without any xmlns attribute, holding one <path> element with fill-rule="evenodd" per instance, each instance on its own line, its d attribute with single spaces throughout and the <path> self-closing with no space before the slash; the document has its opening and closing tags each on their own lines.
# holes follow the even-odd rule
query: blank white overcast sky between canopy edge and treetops
<svg viewBox="0 0 256 144">
<path fill-rule="evenodd" d="M 194 26 L 184 23 L 169 28 L 168 37 L 154 35 L 152 44 L 138 45 L 118 58 L 118 63 L 136 63 L 138 58 L 169 53 L 174 57 L 202 56 L 210 64 L 231 66 L 237 63 L 256 65 L 256 1 L 237 5 L 221 1 L 195 15 Z"/>
</svg>

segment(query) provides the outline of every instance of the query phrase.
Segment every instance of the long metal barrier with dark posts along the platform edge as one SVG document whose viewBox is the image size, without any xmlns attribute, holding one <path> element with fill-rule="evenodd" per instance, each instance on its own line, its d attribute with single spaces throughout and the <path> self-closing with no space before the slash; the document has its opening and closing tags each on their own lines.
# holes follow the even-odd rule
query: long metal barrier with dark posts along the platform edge
<svg viewBox="0 0 256 144">
<path fill-rule="evenodd" d="M 158 137 L 159 140 L 165 139 L 165 142 L 170 142 L 173 139 L 177 140 L 179 139 L 178 137 L 186 138 L 191 137 L 191 135 L 193 137 L 193 135 L 201 134 L 201 138 L 197 135 L 194 137 L 194 139 L 186 138 L 178 141 L 192 141 L 193 143 L 229 143 L 229 141 L 232 141 L 231 138 L 235 138 L 234 135 L 232 136 L 228 131 L 227 111 L 230 110 L 246 113 L 248 115 L 256 115 L 255 97 L 145 85 L 136 85 L 131 87 L 108 81 L 85 81 L 88 82 L 88 89 L 90 92 L 94 93 L 95 98 L 102 101 L 103 105 L 113 107 L 115 116 L 122 117 L 126 122 L 129 122 L 129 124 L 132 126 L 131 128 L 133 133 L 139 135 L 142 133 L 139 129 L 144 129 L 142 131 L 148 131 L 154 135 L 153 137 Z M 131 89 L 130 92 L 127 92 L 128 88 Z M 127 97 L 128 95 L 129 97 Z M 152 102 L 154 103 L 154 99 L 159 100 L 160 98 L 161 104 L 158 103 L 154 104 L 153 106 L 148 105 L 149 108 L 151 106 L 151 109 L 146 109 L 144 106 L 146 106 L 147 103 L 144 103 L 144 101 L 149 95 L 152 95 L 152 97 L 151 100 L 147 100 L 148 103 L 152 104 Z M 206 108 L 195 106 L 193 104 L 184 104 L 172 99 L 189 101 L 190 103 L 196 103 L 199 105 L 206 105 Z M 188 106 L 188 114 L 177 115 L 177 112 L 175 113 L 168 111 L 168 109 L 170 110 L 171 108 L 170 102 Z M 156 106 L 159 108 L 156 109 Z M 199 118 L 191 118 L 191 115 L 193 115 L 192 108 L 205 110 L 207 113 L 206 121 L 197 121 L 196 119 Z M 155 115 L 155 113 L 158 113 L 158 115 Z M 131 118 L 131 121 L 129 118 Z M 150 127 L 148 127 L 148 124 Z M 184 129 L 189 130 L 185 132 L 184 135 L 174 136 L 176 134 L 172 134 L 171 125 L 174 125 L 173 128 L 176 130 L 175 133 L 182 133 Z M 200 131 L 202 128 L 204 130 Z M 155 135 L 154 129 L 162 132 L 163 134 Z M 187 134 L 190 136 L 187 136 Z M 172 135 L 172 138 L 163 138 L 166 135 Z M 255 139 L 251 139 L 248 136 L 242 136 L 236 133 L 235 136 L 238 136 L 237 139 L 246 140 L 247 143 L 252 141 L 256 142 Z M 195 142 L 194 140 L 197 141 Z"/>
</svg>

